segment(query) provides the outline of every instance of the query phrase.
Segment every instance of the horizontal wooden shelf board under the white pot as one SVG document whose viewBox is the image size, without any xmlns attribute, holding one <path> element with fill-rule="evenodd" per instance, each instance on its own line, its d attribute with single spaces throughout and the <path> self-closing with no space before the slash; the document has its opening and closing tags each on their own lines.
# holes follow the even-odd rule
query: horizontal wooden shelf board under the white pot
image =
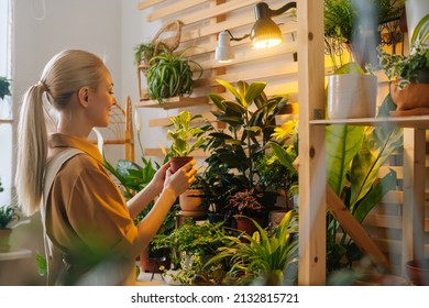
<svg viewBox="0 0 429 308">
<path fill-rule="evenodd" d="M 413 128 L 413 129 L 428 129 L 429 116 L 310 120 L 309 123 L 315 125 L 330 125 L 330 124 L 348 124 L 348 125 L 363 125 L 363 127 L 387 125 L 387 127 Z"/>
</svg>

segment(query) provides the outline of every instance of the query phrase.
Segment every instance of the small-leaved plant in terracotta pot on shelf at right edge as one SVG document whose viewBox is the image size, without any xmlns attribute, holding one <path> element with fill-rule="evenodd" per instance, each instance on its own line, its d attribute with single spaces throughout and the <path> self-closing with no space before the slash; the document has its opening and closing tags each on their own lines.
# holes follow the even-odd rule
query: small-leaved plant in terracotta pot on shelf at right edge
<svg viewBox="0 0 429 308">
<path fill-rule="evenodd" d="M 417 24 L 409 55 L 388 54 L 378 47 L 380 67 L 391 82 L 391 95 L 397 106 L 393 116 L 429 113 L 429 14 Z"/>
</svg>

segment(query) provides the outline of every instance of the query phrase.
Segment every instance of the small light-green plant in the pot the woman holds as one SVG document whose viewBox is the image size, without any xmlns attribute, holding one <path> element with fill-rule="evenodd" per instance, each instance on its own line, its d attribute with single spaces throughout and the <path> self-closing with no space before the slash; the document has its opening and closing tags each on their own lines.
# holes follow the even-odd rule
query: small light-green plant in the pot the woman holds
<svg viewBox="0 0 429 308">
<path fill-rule="evenodd" d="M 211 125 L 191 127 L 191 122 L 201 119 L 201 114 L 193 116 L 189 111 L 182 111 L 177 116 L 169 117 L 173 128 L 167 131 L 167 138 L 173 140 L 170 155 L 185 157 L 195 150 L 204 146 L 206 142 L 205 133 Z"/>
</svg>

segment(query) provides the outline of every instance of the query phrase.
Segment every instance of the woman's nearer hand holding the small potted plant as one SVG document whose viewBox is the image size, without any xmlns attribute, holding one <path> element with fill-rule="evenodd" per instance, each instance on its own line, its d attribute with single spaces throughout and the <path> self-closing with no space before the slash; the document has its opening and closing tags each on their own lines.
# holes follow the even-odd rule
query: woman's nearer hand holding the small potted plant
<svg viewBox="0 0 429 308">
<path fill-rule="evenodd" d="M 168 168 L 166 172 L 164 188 L 172 189 L 176 197 L 185 193 L 196 180 L 195 174 L 197 173 L 197 169 L 194 168 L 195 164 L 196 161 L 193 160 L 174 174 L 172 174 L 172 170 Z"/>
</svg>

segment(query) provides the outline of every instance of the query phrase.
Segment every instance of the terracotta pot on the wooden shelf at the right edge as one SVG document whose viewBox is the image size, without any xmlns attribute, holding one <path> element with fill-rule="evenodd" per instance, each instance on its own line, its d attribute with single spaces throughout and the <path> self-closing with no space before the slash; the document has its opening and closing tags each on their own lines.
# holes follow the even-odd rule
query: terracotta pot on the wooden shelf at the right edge
<svg viewBox="0 0 429 308">
<path fill-rule="evenodd" d="M 429 84 L 409 84 L 403 90 L 391 82 L 391 96 L 397 109 L 392 116 L 420 116 L 429 113 Z"/>
</svg>

